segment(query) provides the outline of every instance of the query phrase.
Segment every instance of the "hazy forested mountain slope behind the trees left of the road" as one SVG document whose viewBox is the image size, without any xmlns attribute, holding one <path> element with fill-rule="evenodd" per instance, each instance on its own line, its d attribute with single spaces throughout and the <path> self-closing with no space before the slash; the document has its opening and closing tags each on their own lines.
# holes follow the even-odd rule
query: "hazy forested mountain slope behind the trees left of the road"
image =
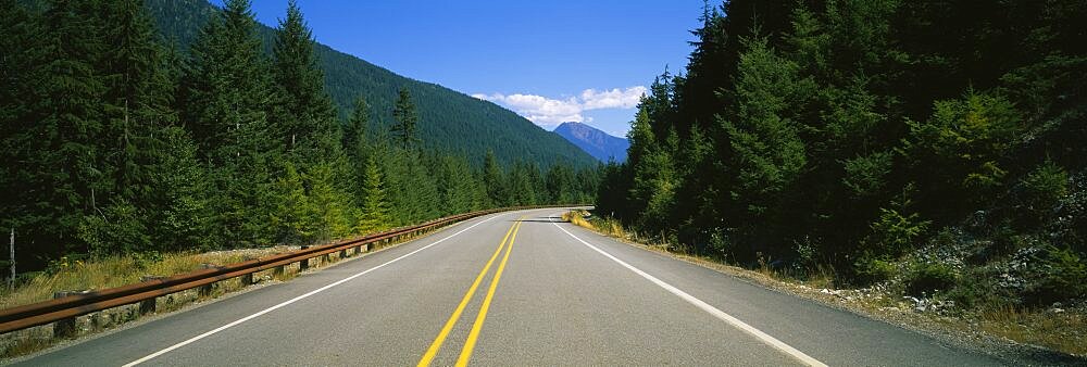
<svg viewBox="0 0 1087 367">
<path fill-rule="evenodd" d="M 200 28 L 218 9 L 207 0 L 145 0 L 164 38 L 187 49 Z M 305 9 L 302 9 L 305 12 Z M 374 14 L 374 16 L 379 16 Z M 265 49 L 271 52 L 275 30 L 260 26 Z M 314 48 L 325 72 L 325 87 L 347 115 L 354 99 L 362 96 L 370 103 L 374 128 L 372 135 L 388 131 L 392 105 L 401 86 L 408 86 L 420 115 L 423 145 L 443 152 L 464 154 L 483 162 L 488 149 L 504 163 L 515 160 L 547 167 L 555 162 L 574 166 L 595 165 L 589 154 L 549 134 L 516 113 L 495 103 L 442 86 L 410 79 L 320 42 Z M 455 73 L 455 71 L 450 71 Z"/>
</svg>

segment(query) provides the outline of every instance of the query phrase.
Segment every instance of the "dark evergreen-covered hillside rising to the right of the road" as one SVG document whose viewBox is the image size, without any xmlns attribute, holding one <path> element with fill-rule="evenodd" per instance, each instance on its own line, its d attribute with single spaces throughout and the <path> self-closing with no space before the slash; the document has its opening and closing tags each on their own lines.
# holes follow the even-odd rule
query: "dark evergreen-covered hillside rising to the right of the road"
<svg viewBox="0 0 1087 367">
<path fill-rule="evenodd" d="M 1087 3 L 726 1 L 598 194 L 676 248 L 969 306 L 1087 295 Z"/>
</svg>

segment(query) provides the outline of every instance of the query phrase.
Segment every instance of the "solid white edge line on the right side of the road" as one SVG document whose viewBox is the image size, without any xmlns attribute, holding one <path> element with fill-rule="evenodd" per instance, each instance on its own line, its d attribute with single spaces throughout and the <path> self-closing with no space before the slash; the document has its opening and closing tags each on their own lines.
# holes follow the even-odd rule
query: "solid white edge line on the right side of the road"
<svg viewBox="0 0 1087 367">
<path fill-rule="evenodd" d="M 820 366 L 820 367 L 825 367 L 826 366 L 826 364 L 824 364 L 822 362 L 819 362 L 819 359 L 812 358 L 811 356 L 804 354 L 803 352 L 800 352 L 799 350 L 790 346 L 789 344 L 786 344 L 785 342 L 783 342 L 780 340 L 777 340 L 777 338 L 771 337 L 770 334 L 767 334 L 765 332 L 762 332 L 762 330 L 755 329 L 754 327 L 748 325 L 747 322 L 744 322 L 740 319 L 738 319 L 736 317 L 733 317 L 733 315 L 728 315 L 725 312 L 719 309 L 717 307 L 714 307 L 714 306 L 710 305 L 709 303 L 705 303 L 702 300 L 699 300 L 699 299 L 695 298 L 694 295 L 690 295 L 689 293 L 684 292 L 684 291 L 679 290 L 678 288 L 675 288 L 672 284 L 669 284 L 669 283 L 664 282 L 663 280 L 657 279 L 657 277 L 653 277 L 653 276 L 649 275 L 648 273 L 642 271 L 641 269 L 636 268 L 633 265 L 627 264 L 626 262 L 624 262 L 622 260 L 619 260 L 615 256 L 612 256 L 611 254 L 604 252 L 603 250 L 600 250 L 599 248 L 597 248 L 597 246 L 595 246 L 592 244 L 589 244 L 589 242 L 585 242 L 585 240 L 578 238 L 577 236 L 574 236 L 574 233 L 571 233 L 565 228 L 562 228 L 561 226 L 559 226 L 559 223 L 554 220 L 554 215 L 551 215 L 550 218 L 551 218 L 551 224 L 553 224 L 555 226 L 555 228 L 559 228 L 559 230 L 562 230 L 563 232 L 566 232 L 566 235 L 569 235 L 570 237 L 574 238 L 578 242 L 582 242 L 582 244 L 589 246 L 589 249 L 596 250 L 601 255 L 604 255 L 605 257 L 611 258 L 615 263 L 619 263 L 619 265 L 622 265 L 623 267 L 629 269 L 630 271 L 634 271 L 635 274 L 641 276 L 642 278 L 648 279 L 649 281 L 653 282 L 654 284 L 660 286 L 661 288 L 663 288 L 664 290 L 671 292 L 672 294 L 678 295 L 684 301 L 687 301 L 688 303 L 695 305 L 696 307 L 701 308 L 702 311 L 709 313 L 710 315 L 713 315 L 714 317 L 716 317 L 716 318 L 719 318 L 719 319 L 721 319 L 721 320 L 723 320 L 725 322 L 728 322 L 729 325 L 736 327 L 737 329 L 740 329 L 740 330 L 742 330 L 742 331 L 751 334 L 752 337 L 758 338 L 763 343 L 765 343 L 765 344 L 767 344 L 770 346 L 773 346 L 773 347 L 777 349 L 778 351 L 782 351 L 785 354 L 788 354 L 789 356 L 791 356 L 794 358 L 797 358 L 797 360 L 800 360 L 801 363 L 803 363 L 803 364 L 805 364 L 808 366 Z"/>
</svg>

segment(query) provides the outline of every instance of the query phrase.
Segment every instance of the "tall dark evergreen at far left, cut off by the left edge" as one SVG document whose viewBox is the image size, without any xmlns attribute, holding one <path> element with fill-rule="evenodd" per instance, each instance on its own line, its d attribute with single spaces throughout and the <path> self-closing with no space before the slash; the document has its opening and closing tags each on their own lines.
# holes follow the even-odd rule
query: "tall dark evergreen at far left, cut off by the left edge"
<svg viewBox="0 0 1087 367">
<path fill-rule="evenodd" d="M 0 225 L 14 228 L 21 242 L 54 254 L 73 240 L 71 225 L 82 214 L 60 151 L 60 122 L 50 118 L 54 106 L 46 102 L 64 93 L 55 83 L 62 75 L 50 71 L 60 40 L 45 15 L 20 1 L 0 1 L 0 189 L 11 194 L 0 200 Z M 29 252 L 18 254 L 20 264 L 35 262 Z"/>
</svg>

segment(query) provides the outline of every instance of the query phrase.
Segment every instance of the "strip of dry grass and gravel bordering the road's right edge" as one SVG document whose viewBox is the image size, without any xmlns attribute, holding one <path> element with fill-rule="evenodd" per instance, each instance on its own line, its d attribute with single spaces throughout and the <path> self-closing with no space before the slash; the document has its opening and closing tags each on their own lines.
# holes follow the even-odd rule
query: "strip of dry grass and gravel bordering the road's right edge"
<svg viewBox="0 0 1087 367">
<path fill-rule="evenodd" d="M 915 273 L 905 269 L 910 262 L 888 266 L 891 275 L 885 281 L 869 286 L 850 284 L 840 280 L 832 267 L 777 268 L 763 258 L 753 264 L 738 264 L 723 256 L 694 251 L 688 245 L 662 241 L 660 236 L 646 236 L 626 229 L 620 220 L 599 217 L 587 211 L 563 214 L 562 219 L 632 245 L 666 253 L 677 260 L 729 274 L 764 287 L 798 296 L 817 300 L 838 307 L 882 319 L 938 338 L 970 340 L 1012 358 L 1015 353 L 1029 355 L 1034 351 L 1002 351 L 1007 341 L 1025 343 L 1058 353 L 1087 357 L 1087 303 L 1057 304 L 1045 308 L 1015 306 L 963 306 L 944 293 L 911 295 Z M 899 269 L 901 268 L 901 269 Z M 921 270 L 933 271 L 933 270 Z M 942 273 L 936 270 L 933 273 Z M 1007 303 L 1001 303 L 1007 304 Z M 1058 357 L 1058 360 L 1064 360 Z M 1014 360 L 1014 359 L 1013 359 Z"/>
</svg>

